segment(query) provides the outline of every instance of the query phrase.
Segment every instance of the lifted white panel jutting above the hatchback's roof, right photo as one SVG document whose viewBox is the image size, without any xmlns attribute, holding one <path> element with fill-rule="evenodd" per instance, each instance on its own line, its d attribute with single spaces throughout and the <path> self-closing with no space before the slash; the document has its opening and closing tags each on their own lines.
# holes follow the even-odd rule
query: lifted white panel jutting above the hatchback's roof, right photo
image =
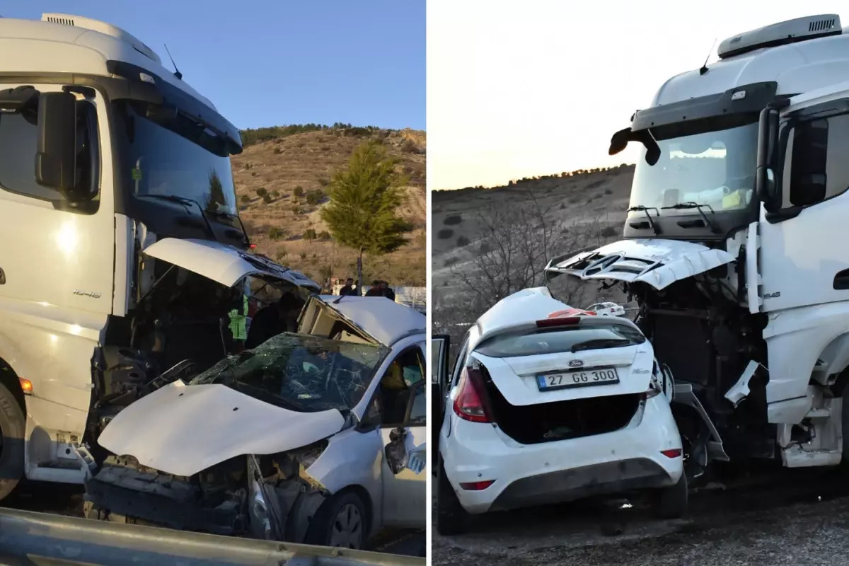
<svg viewBox="0 0 849 566">
<path fill-rule="evenodd" d="M 615 279 L 626 283 L 648 283 L 664 289 L 734 261 L 722 249 L 665 239 L 622 240 L 577 255 L 562 255 L 548 262 L 548 280 L 559 275 L 581 279 Z"/>
</svg>

